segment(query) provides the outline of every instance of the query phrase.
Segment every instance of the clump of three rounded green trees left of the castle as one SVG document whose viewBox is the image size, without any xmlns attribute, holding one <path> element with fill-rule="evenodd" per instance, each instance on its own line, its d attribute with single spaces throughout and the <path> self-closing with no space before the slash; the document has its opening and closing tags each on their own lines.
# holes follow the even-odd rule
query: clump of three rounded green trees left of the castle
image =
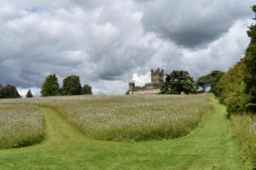
<svg viewBox="0 0 256 170">
<path fill-rule="evenodd" d="M 88 84 L 81 86 L 79 76 L 69 76 L 63 80 L 60 88 L 58 78 L 55 75 L 49 75 L 45 78 L 41 90 L 42 97 L 57 95 L 81 95 L 92 94 L 91 87 Z"/>
</svg>

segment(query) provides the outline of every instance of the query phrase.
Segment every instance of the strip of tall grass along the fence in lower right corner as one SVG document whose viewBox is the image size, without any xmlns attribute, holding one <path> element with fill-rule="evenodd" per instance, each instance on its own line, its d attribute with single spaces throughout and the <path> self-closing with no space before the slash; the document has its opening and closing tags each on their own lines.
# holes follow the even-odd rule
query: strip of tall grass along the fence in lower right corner
<svg viewBox="0 0 256 170">
<path fill-rule="evenodd" d="M 232 122 L 236 138 L 241 145 L 245 170 L 254 170 L 256 169 L 256 132 L 253 129 L 253 116 L 232 116 Z"/>
</svg>

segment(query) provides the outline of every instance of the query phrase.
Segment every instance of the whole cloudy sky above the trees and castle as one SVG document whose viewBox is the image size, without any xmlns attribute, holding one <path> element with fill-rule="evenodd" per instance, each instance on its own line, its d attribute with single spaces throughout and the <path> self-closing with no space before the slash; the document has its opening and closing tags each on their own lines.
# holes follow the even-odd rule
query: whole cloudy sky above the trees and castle
<svg viewBox="0 0 256 170">
<path fill-rule="evenodd" d="M 150 70 L 198 78 L 243 56 L 253 0 L 1 0 L 0 82 L 40 95 L 78 75 L 94 94 L 125 94 Z"/>
</svg>

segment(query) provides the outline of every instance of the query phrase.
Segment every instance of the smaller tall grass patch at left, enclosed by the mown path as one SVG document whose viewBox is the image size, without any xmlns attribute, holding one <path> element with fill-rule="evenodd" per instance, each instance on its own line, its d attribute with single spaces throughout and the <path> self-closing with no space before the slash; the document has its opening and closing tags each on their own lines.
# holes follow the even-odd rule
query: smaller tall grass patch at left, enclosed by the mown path
<svg viewBox="0 0 256 170">
<path fill-rule="evenodd" d="M 25 104 L 0 103 L 0 149 L 35 144 L 44 139 L 44 117 Z"/>
</svg>

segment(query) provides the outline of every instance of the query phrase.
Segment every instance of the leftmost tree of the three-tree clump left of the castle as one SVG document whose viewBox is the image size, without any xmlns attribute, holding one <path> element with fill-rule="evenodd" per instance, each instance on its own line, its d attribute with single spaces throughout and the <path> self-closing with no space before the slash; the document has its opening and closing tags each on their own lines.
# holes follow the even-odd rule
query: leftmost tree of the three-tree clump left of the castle
<svg viewBox="0 0 256 170">
<path fill-rule="evenodd" d="M 55 75 L 49 75 L 45 78 L 41 94 L 43 97 L 60 95 L 58 78 Z"/>
</svg>

